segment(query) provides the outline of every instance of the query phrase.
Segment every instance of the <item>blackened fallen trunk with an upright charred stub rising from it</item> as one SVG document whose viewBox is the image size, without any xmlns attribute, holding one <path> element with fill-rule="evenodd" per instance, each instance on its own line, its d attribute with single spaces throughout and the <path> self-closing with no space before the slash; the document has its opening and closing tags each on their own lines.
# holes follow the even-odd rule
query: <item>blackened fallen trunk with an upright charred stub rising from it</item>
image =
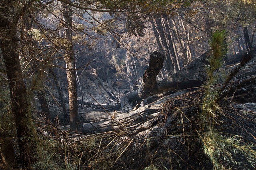
<svg viewBox="0 0 256 170">
<path fill-rule="evenodd" d="M 160 59 L 162 53 L 156 51 L 151 55 L 156 56 L 156 58 Z M 158 57 L 157 57 L 158 56 Z M 207 63 L 206 57 L 208 53 L 204 53 L 199 58 L 193 60 L 191 63 L 187 64 L 182 70 L 168 76 L 164 80 L 160 82 L 156 82 L 151 77 L 144 77 L 149 75 L 154 75 L 152 73 L 148 73 L 148 69 L 145 71 L 143 76 L 143 85 L 140 88 L 132 93 L 126 94 L 120 98 L 121 110 L 129 111 L 134 108 L 137 104 L 140 103 L 142 99 L 145 99 L 149 96 L 153 96 L 156 94 L 160 94 L 163 92 L 168 92 L 172 90 L 182 90 L 186 88 L 194 88 L 201 86 L 202 83 L 206 80 L 206 73 L 204 71 L 204 64 Z M 151 56 L 150 56 L 151 58 Z M 156 62 L 156 60 L 152 60 Z M 158 61 L 159 62 L 159 61 Z M 161 66 L 156 63 L 149 63 L 149 66 L 154 64 L 154 69 L 156 70 L 156 66 Z M 150 67 L 149 67 L 150 68 Z M 161 68 L 158 68 L 161 70 Z M 156 74 L 157 75 L 157 74 Z M 155 75 L 155 76 L 156 76 Z M 149 81 L 148 81 L 149 80 Z"/>
</svg>

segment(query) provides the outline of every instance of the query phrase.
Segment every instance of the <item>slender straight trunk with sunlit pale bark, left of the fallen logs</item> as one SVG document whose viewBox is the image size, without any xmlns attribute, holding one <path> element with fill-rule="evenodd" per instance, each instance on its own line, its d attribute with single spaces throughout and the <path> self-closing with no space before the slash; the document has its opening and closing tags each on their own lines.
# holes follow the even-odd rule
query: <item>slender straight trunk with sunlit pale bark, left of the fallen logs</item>
<svg viewBox="0 0 256 170">
<path fill-rule="evenodd" d="M 71 0 L 69 0 L 71 2 Z M 77 85 L 76 85 L 76 67 L 72 41 L 72 7 L 62 2 L 64 33 L 67 39 L 66 43 L 66 74 L 68 78 L 68 95 L 69 95 L 69 114 L 70 114 L 70 129 L 78 130 L 77 126 Z"/>
</svg>

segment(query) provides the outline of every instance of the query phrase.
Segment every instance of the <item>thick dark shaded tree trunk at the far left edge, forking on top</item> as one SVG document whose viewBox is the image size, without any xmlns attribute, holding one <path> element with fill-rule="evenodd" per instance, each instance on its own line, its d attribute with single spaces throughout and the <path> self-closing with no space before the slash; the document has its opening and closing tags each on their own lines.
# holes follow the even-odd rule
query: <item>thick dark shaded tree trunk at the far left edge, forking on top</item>
<svg viewBox="0 0 256 170">
<path fill-rule="evenodd" d="M 26 11 L 26 8 L 31 5 L 31 1 L 21 6 L 20 9 L 16 9 L 18 11 L 15 12 L 10 8 L 12 4 L 9 4 L 9 1 L 1 0 L 0 3 L 0 14 L 6 16 L 0 19 L 0 46 L 10 88 L 11 109 L 16 124 L 20 159 L 22 168 L 31 169 L 36 156 L 36 145 L 33 140 L 36 138 L 36 132 L 35 128 L 31 127 L 32 116 L 28 110 L 26 86 L 23 80 L 20 58 L 16 52 L 18 20 Z M 12 18 L 13 20 L 9 20 L 10 16 L 13 16 L 12 14 L 16 14 L 16 16 Z"/>
</svg>

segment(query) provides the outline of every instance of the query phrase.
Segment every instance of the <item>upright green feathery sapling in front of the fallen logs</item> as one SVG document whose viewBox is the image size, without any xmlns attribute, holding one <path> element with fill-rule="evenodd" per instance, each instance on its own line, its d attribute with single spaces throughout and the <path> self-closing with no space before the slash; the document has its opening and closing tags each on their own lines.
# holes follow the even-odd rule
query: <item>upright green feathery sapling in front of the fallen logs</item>
<svg viewBox="0 0 256 170">
<path fill-rule="evenodd" d="M 218 77 L 222 76 L 217 71 L 222 66 L 222 59 L 226 54 L 225 31 L 216 31 L 210 42 L 209 65 L 206 66 L 208 80 L 204 84 L 205 94 L 202 104 L 201 130 L 199 134 L 202 140 L 204 153 L 210 158 L 213 168 L 221 170 L 223 161 L 236 163 L 232 155 L 240 152 L 246 156 L 247 161 L 255 167 L 256 152 L 253 148 L 254 144 L 240 144 L 240 137 L 225 137 L 220 132 L 214 130 L 214 124 L 218 118 L 217 113 L 221 113 L 218 105 L 218 88 L 214 88 L 214 84 L 218 82 Z"/>
</svg>

